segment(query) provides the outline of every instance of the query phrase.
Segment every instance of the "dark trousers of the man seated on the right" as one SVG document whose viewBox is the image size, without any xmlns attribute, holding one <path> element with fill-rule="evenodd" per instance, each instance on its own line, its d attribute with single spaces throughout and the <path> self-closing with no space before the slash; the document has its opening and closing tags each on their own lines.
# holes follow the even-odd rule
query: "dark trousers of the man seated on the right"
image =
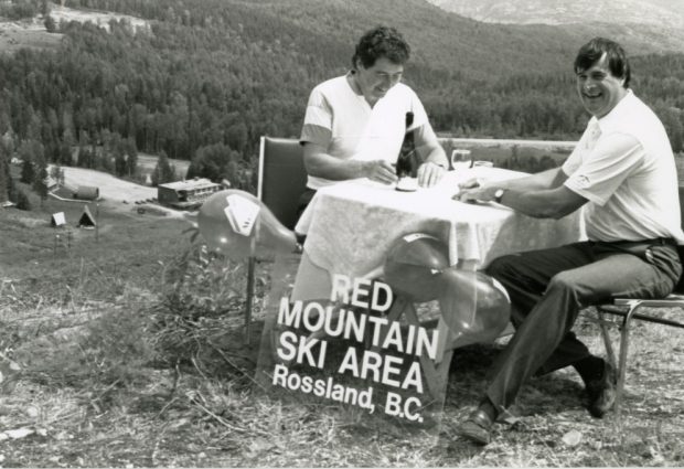
<svg viewBox="0 0 684 469">
<path fill-rule="evenodd" d="M 503 256 L 487 273 L 507 290 L 516 329 L 494 362 L 487 390 L 503 411 L 533 374 L 590 356 L 570 331 L 583 308 L 617 297 L 667 296 L 682 264 L 670 239 L 583 242 Z"/>
</svg>

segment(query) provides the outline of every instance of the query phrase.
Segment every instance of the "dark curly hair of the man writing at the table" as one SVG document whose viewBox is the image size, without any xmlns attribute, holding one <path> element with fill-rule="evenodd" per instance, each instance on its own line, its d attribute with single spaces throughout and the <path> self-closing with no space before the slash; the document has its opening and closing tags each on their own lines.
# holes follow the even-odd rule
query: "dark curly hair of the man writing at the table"
<svg viewBox="0 0 684 469">
<path fill-rule="evenodd" d="M 359 61 L 364 68 L 375 65 L 375 61 L 385 57 L 394 64 L 404 64 L 410 56 L 410 46 L 402 33 L 394 28 L 376 26 L 367 31 L 356 44 L 352 57 L 352 68 L 355 70 Z"/>
</svg>

